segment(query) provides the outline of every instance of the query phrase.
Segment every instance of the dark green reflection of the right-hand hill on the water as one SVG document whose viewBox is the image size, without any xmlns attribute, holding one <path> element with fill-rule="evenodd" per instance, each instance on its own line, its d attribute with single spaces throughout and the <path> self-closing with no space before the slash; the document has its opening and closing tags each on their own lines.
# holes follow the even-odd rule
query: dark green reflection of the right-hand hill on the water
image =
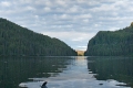
<svg viewBox="0 0 133 88">
<path fill-rule="evenodd" d="M 88 68 L 98 80 L 115 79 L 133 87 L 133 58 L 89 57 Z M 92 63 L 90 63 L 93 61 Z"/>
</svg>

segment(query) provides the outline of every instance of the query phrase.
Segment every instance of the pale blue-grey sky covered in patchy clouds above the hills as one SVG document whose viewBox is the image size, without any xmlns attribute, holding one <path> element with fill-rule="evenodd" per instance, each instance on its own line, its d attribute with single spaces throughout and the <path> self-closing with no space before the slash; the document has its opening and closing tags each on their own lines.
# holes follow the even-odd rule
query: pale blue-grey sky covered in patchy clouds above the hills
<svg viewBox="0 0 133 88">
<path fill-rule="evenodd" d="M 99 31 L 114 31 L 133 21 L 132 0 L 0 0 L 0 18 L 86 50 Z"/>
</svg>

